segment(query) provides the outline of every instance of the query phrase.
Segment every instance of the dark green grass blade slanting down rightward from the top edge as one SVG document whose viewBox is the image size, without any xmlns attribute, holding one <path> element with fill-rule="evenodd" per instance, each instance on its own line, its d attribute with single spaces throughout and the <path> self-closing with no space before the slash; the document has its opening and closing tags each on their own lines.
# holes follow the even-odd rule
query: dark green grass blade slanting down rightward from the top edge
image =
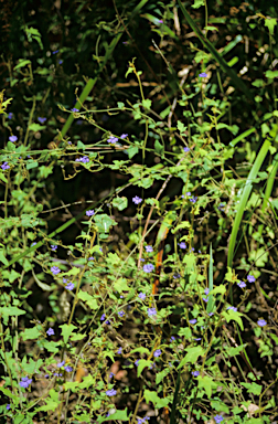
<svg viewBox="0 0 278 424">
<path fill-rule="evenodd" d="M 202 41 L 204 46 L 209 50 L 209 52 L 213 55 L 216 62 L 221 65 L 222 70 L 226 72 L 226 74 L 232 78 L 233 84 L 239 88 L 250 100 L 254 100 L 253 95 L 250 94 L 247 86 L 244 84 L 244 82 L 236 75 L 235 71 L 232 70 L 227 62 L 222 57 L 222 55 L 217 52 L 217 50 L 214 47 L 214 45 L 204 36 L 204 34 L 201 32 L 201 30 L 197 28 L 184 6 L 182 4 L 181 0 L 178 0 L 178 3 L 180 4 L 181 11 L 184 14 L 186 21 L 189 22 L 192 30 L 195 32 L 195 34 L 199 36 L 199 39 Z"/>
</svg>

